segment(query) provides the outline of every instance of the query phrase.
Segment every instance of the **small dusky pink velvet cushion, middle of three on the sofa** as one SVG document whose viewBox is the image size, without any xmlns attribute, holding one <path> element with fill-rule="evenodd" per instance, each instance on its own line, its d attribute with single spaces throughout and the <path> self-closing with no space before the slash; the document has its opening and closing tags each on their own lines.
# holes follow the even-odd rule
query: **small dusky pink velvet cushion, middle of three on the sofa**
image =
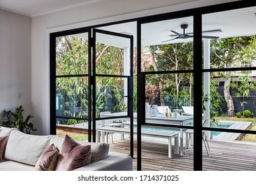
<svg viewBox="0 0 256 184">
<path fill-rule="evenodd" d="M 59 152 L 52 144 L 42 153 L 36 162 L 36 171 L 54 171 L 59 158 Z"/>
</svg>

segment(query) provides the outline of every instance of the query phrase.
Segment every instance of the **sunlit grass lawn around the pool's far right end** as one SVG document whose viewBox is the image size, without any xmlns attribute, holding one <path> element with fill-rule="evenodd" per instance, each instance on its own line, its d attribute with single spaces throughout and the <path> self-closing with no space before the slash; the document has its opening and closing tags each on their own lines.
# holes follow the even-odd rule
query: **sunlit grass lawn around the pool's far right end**
<svg viewBox="0 0 256 184">
<path fill-rule="evenodd" d="M 228 118 L 228 117 L 217 117 L 218 120 L 227 120 L 227 121 L 236 121 L 236 122 L 251 122 L 251 129 L 256 131 L 256 118 Z M 246 134 L 243 136 L 241 141 L 249 141 L 249 142 L 256 142 L 256 135 L 255 134 Z"/>
</svg>

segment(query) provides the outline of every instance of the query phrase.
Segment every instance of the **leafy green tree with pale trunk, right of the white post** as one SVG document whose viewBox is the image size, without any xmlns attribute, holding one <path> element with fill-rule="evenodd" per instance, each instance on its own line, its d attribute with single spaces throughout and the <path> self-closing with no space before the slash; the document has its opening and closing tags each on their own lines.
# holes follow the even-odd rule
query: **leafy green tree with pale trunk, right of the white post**
<svg viewBox="0 0 256 184">
<path fill-rule="evenodd" d="M 211 67 L 234 68 L 241 67 L 242 63 L 251 63 L 255 60 L 255 36 L 231 37 L 214 39 L 211 41 Z M 254 47 L 255 48 L 255 47 Z M 234 116 L 234 101 L 230 94 L 232 72 L 224 72 L 224 98 L 227 104 L 227 116 Z"/>
</svg>

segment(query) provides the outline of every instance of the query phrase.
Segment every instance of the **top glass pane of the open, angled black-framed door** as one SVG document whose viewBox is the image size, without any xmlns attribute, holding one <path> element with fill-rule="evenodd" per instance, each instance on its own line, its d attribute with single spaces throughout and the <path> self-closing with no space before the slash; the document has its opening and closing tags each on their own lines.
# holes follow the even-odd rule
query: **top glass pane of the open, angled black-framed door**
<svg viewBox="0 0 256 184">
<path fill-rule="evenodd" d="M 96 33 L 96 74 L 130 75 L 130 39 Z"/>
</svg>

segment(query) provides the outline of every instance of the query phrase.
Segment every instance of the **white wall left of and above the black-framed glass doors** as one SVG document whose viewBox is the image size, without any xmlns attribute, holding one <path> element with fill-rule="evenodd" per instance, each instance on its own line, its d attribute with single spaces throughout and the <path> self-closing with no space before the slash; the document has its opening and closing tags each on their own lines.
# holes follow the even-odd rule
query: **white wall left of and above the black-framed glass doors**
<svg viewBox="0 0 256 184">
<path fill-rule="evenodd" d="M 125 2 L 125 3 L 124 3 Z M 182 1 L 188 2 L 188 1 Z M 49 32 L 192 9 L 224 1 L 106 0 L 32 18 L 32 109 L 38 134 L 49 133 Z M 227 2 L 227 1 L 226 1 Z M 157 9 L 155 9 L 157 7 Z M 159 8 L 162 7 L 162 8 Z M 119 15 L 119 16 L 117 16 Z"/>
</svg>

